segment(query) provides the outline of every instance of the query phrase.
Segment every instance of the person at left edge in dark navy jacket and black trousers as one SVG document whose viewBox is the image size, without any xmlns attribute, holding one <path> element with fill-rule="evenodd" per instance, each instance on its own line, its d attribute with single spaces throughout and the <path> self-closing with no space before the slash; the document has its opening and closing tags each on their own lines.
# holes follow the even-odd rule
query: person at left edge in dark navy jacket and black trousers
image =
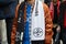
<svg viewBox="0 0 66 44">
<path fill-rule="evenodd" d="M 18 0 L 0 0 L 0 20 L 6 20 L 7 24 L 7 38 L 10 44 L 10 33 L 12 28 L 12 22 L 14 18 L 15 7 L 18 4 Z"/>
</svg>

